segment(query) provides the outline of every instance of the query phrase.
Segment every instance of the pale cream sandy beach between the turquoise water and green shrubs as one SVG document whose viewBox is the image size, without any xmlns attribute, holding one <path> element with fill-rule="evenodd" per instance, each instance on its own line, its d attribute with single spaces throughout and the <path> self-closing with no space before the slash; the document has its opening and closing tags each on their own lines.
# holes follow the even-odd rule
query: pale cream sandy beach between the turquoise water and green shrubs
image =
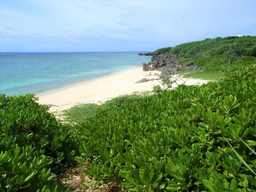
<svg viewBox="0 0 256 192">
<path fill-rule="evenodd" d="M 140 79 L 157 79 L 159 71 L 143 72 L 141 67 L 116 72 L 108 76 L 72 84 L 59 90 L 45 92 L 37 95 L 40 104 L 52 105 L 51 111 L 61 111 L 81 103 L 99 103 L 119 95 L 134 92 L 151 91 L 154 85 L 160 84 L 157 80 L 136 83 Z M 208 81 L 201 79 L 188 79 L 186 84 L 204 84 Z M 179 84 L 183 83 L 179 79 Z"/>
</svg>

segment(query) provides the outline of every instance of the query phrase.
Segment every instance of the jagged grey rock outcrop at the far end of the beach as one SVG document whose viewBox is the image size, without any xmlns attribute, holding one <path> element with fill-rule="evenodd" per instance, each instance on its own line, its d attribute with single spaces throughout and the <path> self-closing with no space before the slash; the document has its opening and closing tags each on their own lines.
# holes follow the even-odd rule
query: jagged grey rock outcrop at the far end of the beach
<svg viewBox="0 0 256 192">
<path fill-rule="evenodd" d="M 180 70 L 202 70 L 196 65 L 182 65 L 178 61 L 179 56 L 169 54 L 158 54 L 151 58 L 148 63 L 143 63 L 143 70 L 161 70 L 161 78 L 167 78 L 177 74 Z"/>
</svg>

